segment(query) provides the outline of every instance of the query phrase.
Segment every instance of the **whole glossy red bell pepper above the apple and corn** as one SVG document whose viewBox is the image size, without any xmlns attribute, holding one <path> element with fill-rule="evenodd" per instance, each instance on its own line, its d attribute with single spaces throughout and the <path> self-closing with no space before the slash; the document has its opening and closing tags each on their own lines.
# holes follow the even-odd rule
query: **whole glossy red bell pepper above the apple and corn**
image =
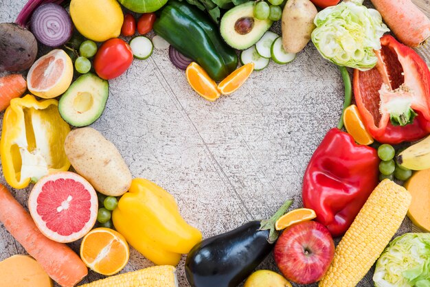
<svg viewBox="0 0 430 287">
<path fill-rule="evenodd" d="M 378 185 L 378 153 L 355 143 L 339 128 L 328 131 L 309 161 L 303 179 L 303 205 L 333 237 L 350 227 Z"/>
</svg>

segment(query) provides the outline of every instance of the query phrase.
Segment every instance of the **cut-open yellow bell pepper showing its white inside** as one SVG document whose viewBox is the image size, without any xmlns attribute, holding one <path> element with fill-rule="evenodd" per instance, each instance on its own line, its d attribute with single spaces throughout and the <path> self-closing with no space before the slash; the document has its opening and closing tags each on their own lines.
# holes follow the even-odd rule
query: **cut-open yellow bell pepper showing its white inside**
<svg viewBox="0 0 430 287">
<path fill-rule="evenodd" d="M 69 131 L 57 100 L 25 95 L 10 101 L 0 139 L 1 165 L 9 185 L 21 189 L 46 174 L 69 170 L 64 151 Z"/>
</svg>

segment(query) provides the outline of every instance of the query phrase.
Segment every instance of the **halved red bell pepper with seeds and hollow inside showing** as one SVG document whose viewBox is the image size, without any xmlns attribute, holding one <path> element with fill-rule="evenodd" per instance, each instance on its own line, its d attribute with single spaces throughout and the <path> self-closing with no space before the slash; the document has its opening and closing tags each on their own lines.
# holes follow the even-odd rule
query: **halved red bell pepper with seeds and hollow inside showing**
<svg viewBox="0 0 430 287">
<path fill-rule="evenodd" d="M 354 71 L 354 96 L 363 122 L 381 143 L 415 141 L 430 133 L 430 71 L 413 49 L 385 35 L 378 62 Z"/>
</svg>

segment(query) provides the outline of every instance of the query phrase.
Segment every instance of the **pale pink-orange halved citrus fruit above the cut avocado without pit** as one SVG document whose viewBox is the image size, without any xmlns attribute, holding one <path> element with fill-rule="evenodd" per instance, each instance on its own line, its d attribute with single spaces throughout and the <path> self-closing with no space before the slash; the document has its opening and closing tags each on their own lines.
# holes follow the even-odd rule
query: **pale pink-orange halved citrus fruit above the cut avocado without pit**
<svg viewBox="0 0 430 287">
<path fill-rule="evenodd" d="M 73 78 L 73 63 L 62 49 L 54 49 L 42 56 L 30 68 L 27 88 L 32 94 L 51 99 L 64 93 Z"/>
</svg>

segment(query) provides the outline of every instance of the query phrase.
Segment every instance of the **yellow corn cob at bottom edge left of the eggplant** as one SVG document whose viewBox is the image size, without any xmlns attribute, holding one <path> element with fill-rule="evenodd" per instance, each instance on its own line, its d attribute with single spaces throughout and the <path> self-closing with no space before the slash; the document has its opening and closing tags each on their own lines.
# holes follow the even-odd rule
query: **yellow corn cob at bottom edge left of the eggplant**
<svg viewBox="0 0 430 287">
<path fill-rule="evenodd" d="M 138 271 L 107 277 L 79 287 L 177 287 L 176 268 L 152 266 Z"/>
</svg>

